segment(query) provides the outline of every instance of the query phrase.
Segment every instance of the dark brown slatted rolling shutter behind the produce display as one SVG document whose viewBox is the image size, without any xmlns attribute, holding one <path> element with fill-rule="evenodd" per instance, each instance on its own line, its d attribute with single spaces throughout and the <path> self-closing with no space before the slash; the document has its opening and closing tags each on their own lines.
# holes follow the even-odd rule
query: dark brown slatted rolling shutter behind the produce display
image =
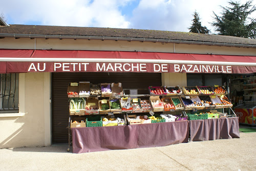
<svg viewBox="0 0 256 171">
<path fill-rule="evenodd" d="M 52 143 L 68 142 L 69 82 L 93 84 L 121 82 L 123 89 L 139 89 L 148 94 L 148 86 L 161 86 L 161 73 L 52 73 Z"/>
</svg>

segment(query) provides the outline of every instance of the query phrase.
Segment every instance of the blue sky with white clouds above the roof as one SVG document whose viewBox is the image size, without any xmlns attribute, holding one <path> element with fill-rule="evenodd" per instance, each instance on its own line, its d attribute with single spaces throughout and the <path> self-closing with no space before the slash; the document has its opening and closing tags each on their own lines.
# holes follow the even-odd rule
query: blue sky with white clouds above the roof
<svg viewBox="0 0 256 171">
<path fill-rule="evenodd" d="M 193 14 L 202 26 L 215 28 L 229 0 L 9 0 L 0 3 L 8 24 L 129 28 L 188 32 Z M 236 1 L 236 0 L 234 0 Z M 245 4 L 246 0 L 237 0 Z M 256 0 L 252 1 L 256 5 Z M 256 17 L 256 12 L 252 17 Z"/>
</svg>

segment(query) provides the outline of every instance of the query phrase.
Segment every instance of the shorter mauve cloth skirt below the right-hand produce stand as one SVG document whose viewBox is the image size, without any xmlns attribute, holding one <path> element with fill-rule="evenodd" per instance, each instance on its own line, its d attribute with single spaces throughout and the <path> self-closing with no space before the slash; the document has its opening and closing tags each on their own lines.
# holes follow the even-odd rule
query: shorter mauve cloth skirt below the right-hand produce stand
<svg viewBox="0 0 256 171">
<path fill-rule="evenodd" d="M 190 141 L 240 138 L 238 117 L 190 120 Z"/>
</svg>

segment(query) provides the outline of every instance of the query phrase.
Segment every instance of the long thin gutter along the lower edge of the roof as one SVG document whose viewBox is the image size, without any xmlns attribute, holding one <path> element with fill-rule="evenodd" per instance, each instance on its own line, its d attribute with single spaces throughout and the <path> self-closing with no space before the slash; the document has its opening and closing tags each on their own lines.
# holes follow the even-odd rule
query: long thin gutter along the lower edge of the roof
<svg viewBox="0 0 256 171">
<path fill-rule="evenodd" d="M 205 42 L 205 41 L 190 41 L 190 40 L 173 40 L 173 39 L 156 39 L 156 38 L 136 38 L 136 37 L 110 37 L 110 36 L 77 36 L 77 35 L 42 35 L 42 34 L 9 34 L 0 33 L 0 37 L 14 37 L 14 38 L 58 38 L 58 39 L 96 39 L 96 40 L 125 40 L 125 41 L 151 41 L 164 42 L 174 44 L 194 44 L 194 45 L 209 45 L 209 46 L 226 46 L 226 47 L 240 47 L 240 48 L 256 48 L 256 45 L 248 44 L 229 44 L 220 42 Z"/>
</svg>

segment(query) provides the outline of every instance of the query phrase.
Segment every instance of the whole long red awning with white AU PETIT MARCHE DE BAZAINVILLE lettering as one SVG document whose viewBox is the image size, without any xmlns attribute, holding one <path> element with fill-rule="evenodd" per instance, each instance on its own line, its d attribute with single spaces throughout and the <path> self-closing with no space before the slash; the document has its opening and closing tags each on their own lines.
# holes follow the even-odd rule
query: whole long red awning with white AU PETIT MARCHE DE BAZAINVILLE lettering
<svg viewBox="0 0 256 171">
<path fill-rule="evenodd" d="M 256 56 L 159 52 L 0 50 L 0 72 L 254 73 Z"/>
</svg>

